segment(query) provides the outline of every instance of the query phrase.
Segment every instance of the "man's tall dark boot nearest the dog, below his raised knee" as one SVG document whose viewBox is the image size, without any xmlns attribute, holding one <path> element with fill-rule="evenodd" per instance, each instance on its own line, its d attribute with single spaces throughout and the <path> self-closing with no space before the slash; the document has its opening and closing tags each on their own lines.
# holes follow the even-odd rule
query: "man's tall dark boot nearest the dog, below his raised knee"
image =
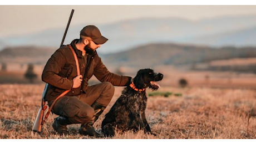
<svg viewBox="0 0 256 144">
<path fill-rule="evenodd" d="M 95 136 L 95 137 L 104 137 L 104 135 L 100 132 L 95 131 L 94 127 L 92 126 L 94 122 L 99 118 L 99 116 L 102 114 L 104 109 L 106 107 L 101 106 L 94 102 L 91 107 L 94 109 L 94 115 L 91 119 L 91 121 L 82 124 L 79 130 L 79 133 L 82 135 L 89 135 L 89 136 Z"/>
</svg>

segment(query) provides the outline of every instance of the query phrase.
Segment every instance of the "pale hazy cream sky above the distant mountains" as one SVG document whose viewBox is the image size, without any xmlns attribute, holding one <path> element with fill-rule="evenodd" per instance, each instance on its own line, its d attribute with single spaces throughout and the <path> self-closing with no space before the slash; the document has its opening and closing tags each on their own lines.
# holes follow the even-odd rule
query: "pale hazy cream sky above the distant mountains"
<svg viewBox="0 0 256 144">
<path fill-rule="evenodd" d="M 106 24 L 142 17 L 179 17 L 198 20 L 218 16 L 256 14 L 256 5 L 1 5 L 0 37 L 36 33 L 45 29 L 66 27 L 72 9 L 75 9 L 75 12 L 70 27 L 83 23 Z"/>
</svg>

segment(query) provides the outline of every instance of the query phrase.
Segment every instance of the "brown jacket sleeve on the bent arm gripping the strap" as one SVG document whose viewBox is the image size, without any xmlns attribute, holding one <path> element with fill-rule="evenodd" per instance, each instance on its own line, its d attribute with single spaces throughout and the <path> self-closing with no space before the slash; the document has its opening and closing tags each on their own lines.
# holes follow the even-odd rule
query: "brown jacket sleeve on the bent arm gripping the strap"
<svg viewBox="0 0 256 144">
<path fill-rule="evenodd" d="M 42 81 L 60 89 L 70 90 L 73 87 L 73 81 L 58 75 L 65 66 L 66 56 L 62 50 L 58 49 L 47 61 L 42 73 Z"/>
</svg>

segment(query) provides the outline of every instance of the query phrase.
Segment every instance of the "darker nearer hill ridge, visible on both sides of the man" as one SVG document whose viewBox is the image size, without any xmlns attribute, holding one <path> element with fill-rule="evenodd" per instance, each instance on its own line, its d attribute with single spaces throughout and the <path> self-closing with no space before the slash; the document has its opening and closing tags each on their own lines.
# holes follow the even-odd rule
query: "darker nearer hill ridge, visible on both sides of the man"
<svg viewBox="0 0 256 144">
<path fill-rule="evenodd" d="M 37 63 L 45 64 L 55 48 L 35 46 L 12 47 L 0 52 L 0 63 Z M 212 60 L 232 58 L 255 58 L 256 47 L 214 48 L 201 45 L 152 43 L 134 47 L 125 52 L 102 54 L 104 63 L 115 66 L 156 66 L 156 65 L 192 65 Z"/>
</svg>

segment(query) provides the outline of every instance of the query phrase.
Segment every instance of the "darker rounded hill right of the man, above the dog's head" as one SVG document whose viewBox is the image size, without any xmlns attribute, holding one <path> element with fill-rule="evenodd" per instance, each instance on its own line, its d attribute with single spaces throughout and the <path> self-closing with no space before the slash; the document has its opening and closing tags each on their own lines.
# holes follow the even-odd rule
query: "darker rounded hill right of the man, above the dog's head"
<svg viewBox="0 0 256 144">
<path fill-rule="evenodd" d="M 109 54 L 104 59 L 112 65 L 147 67 L 161 64 L 181 66 L 212 60 L 254 58 L 255 56 L 256 47 L 216 49 L 200 45 L 159 43 L 142 45 L 125 52 Z"/>
</svg>

